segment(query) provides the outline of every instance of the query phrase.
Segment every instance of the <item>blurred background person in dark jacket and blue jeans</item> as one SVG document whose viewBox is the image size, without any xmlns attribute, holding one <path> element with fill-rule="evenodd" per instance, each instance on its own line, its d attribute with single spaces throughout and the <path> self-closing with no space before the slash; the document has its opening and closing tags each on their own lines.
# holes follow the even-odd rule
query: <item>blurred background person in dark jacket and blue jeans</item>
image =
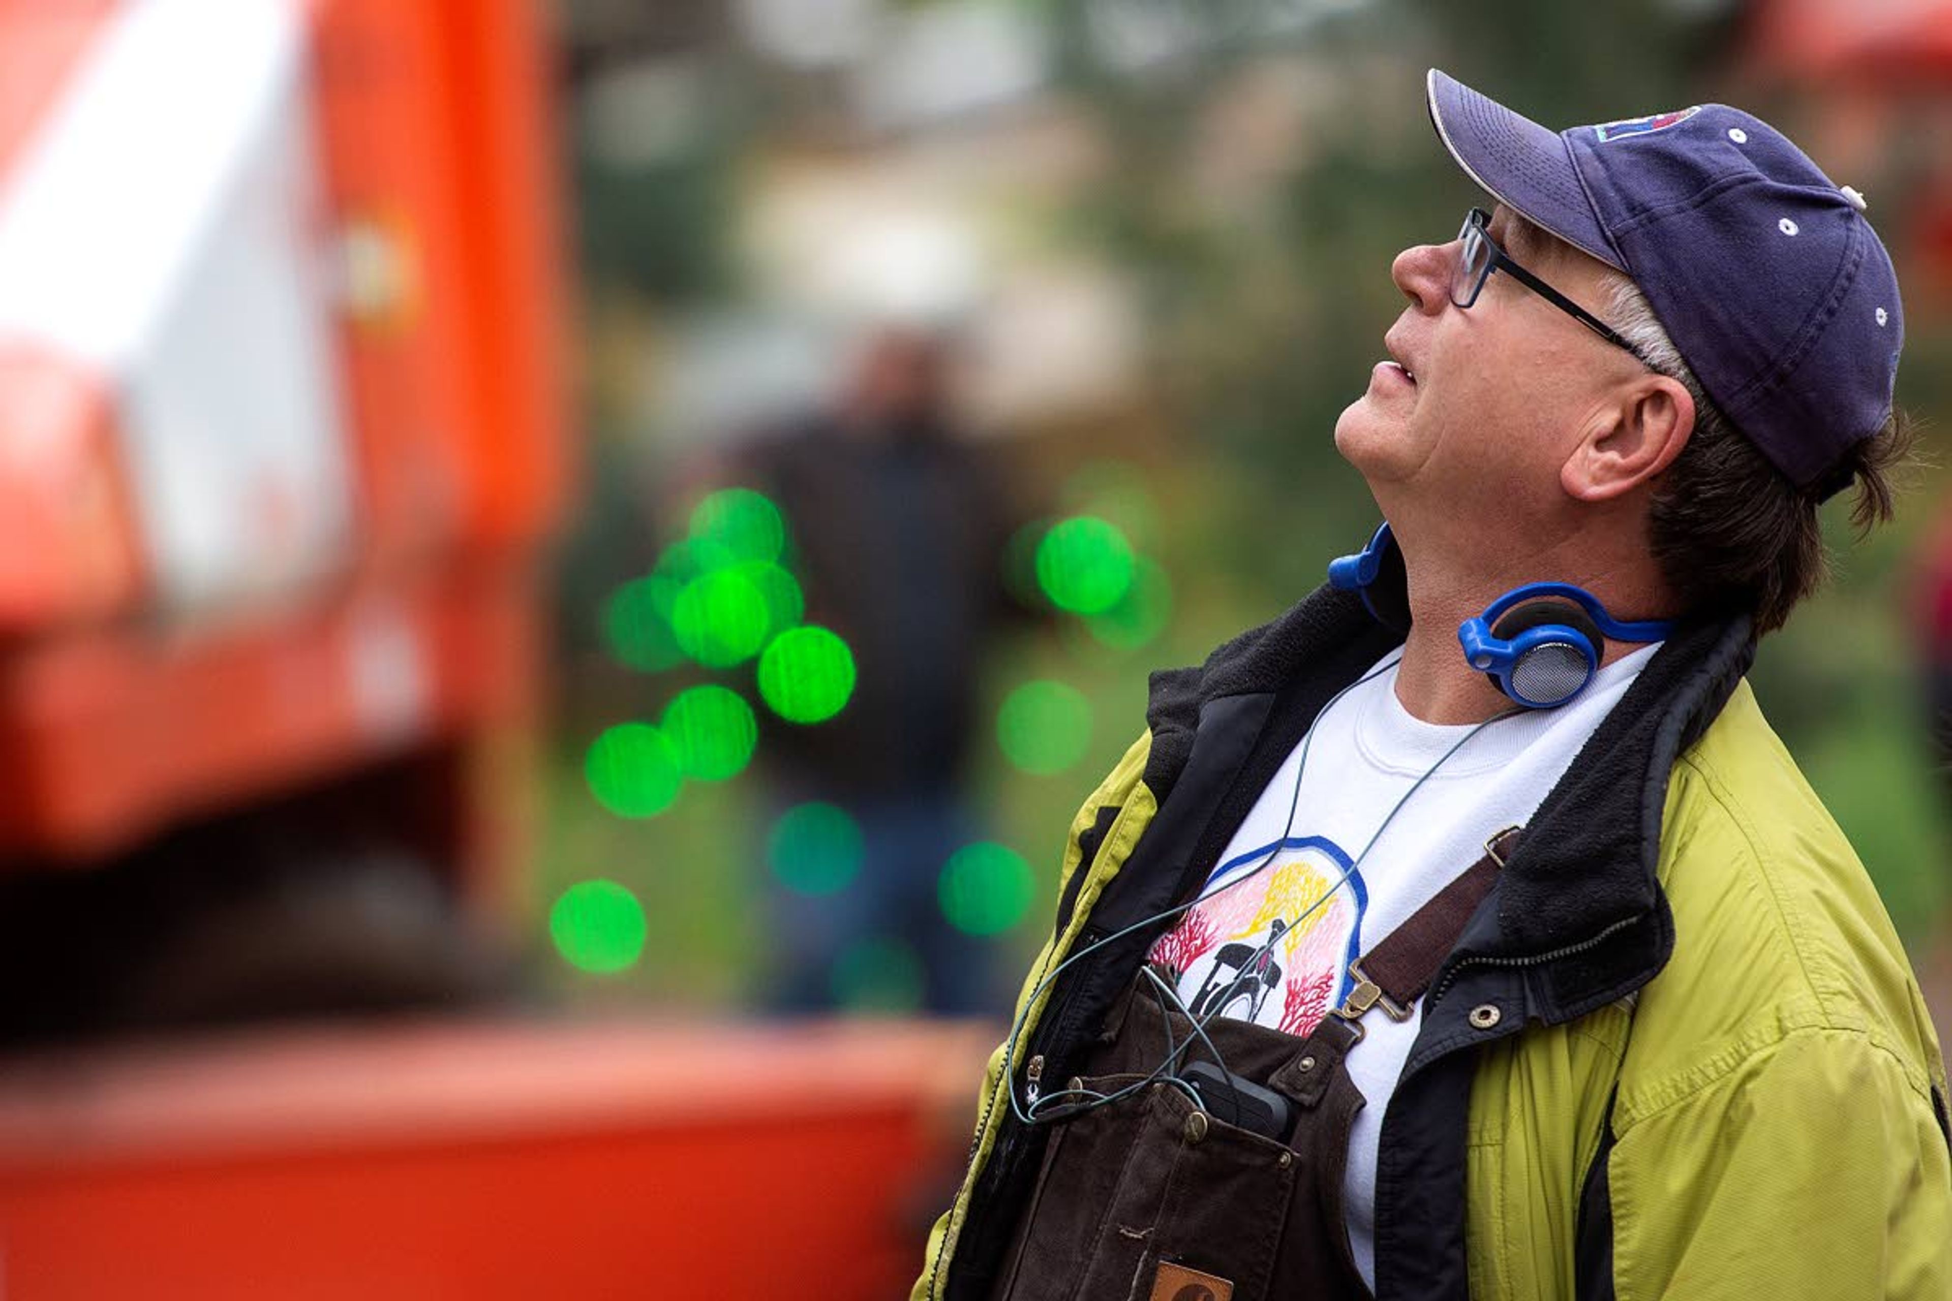
<svg viewBox="0 0 1952 1301">
<path fill-rule="evenodd" d="M 865 335 L 837 402 L 744 456 L 744 476 L 789 521 L 806 616 L 853 650 L 847 706 L 814 728 L 777 724 L 763 753 L 777 808 L 824 802 L 861 831 L 845 889 L 773 887 L 765 1003 L 841 1003 L 837 966 L 863 946 L 921 958 L 921 1008 L 1001 1016 L 997 944 L 943 915 L 937 880 L 978 839 L 964 761 L 992 636 L 1011 618 L 1001 478 L 953 408 L 951 341 L 882 326 Z"/>
</svg>

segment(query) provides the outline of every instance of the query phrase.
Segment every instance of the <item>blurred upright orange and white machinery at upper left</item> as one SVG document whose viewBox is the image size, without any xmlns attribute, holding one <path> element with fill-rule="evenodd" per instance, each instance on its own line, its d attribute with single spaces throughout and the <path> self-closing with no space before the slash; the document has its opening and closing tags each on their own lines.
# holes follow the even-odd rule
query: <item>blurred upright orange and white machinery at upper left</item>
<svg viewBox="0 0 1952 1301">
<path fill-rule="evenodd" d="M 570 470 L 537 8 L 0 0 L 0 862 L 392 763 L 506 901 Z"/>
</svg>

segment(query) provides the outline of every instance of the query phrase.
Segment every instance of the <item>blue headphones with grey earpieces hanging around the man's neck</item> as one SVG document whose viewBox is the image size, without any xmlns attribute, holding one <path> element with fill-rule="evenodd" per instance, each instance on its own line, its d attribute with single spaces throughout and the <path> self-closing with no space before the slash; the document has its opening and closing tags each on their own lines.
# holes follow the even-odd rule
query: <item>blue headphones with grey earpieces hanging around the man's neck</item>
<svg viewBox="0 0 1952 1301">
<path fill-rule="evenodd" d="M 1409 628 L 1403 554 L 1384 523 L 1355 556 L 1329 562 L 1329 587 L 1362 597 L 1388 628 Z M 1673 622 L 1620 622 L 1599 597 L 1571 583 L 1525 583 L 1458 628 L 1464 659 L 1528 710 L 1552 710 L 1593 681 L 1606 638 L 1661 642 Z"/>
</svg>

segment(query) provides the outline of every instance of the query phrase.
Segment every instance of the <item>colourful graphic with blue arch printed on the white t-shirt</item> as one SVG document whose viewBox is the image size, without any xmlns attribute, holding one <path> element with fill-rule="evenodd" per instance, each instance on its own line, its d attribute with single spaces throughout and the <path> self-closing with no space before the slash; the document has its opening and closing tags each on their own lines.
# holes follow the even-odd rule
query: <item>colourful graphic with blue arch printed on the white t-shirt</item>
<svg viewBox="0 0 1952 1301">
<path fill-rule="evenodd" d="M 1214 870 L 1206 899 L 1158 938 L 1148 962 L 1195 1016 L 1308 1034 L 1347 997 L 1349 964 L 1362 956 L 1368 889 L 1351 868 L 1323 837 L 1240 854 Z"/>
</svg>

